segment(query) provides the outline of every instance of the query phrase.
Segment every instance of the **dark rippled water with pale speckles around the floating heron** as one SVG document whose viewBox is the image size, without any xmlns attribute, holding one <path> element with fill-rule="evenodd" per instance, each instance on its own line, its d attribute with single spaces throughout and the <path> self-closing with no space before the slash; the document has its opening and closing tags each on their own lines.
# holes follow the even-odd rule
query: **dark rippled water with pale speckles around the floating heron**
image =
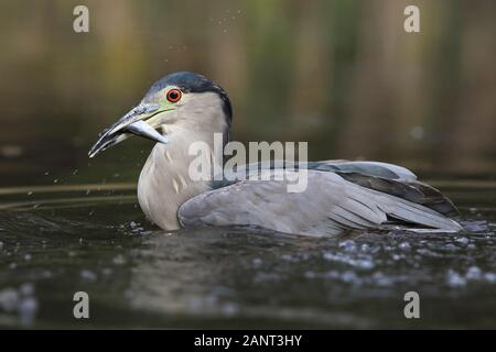
<svg viewBox="0 0 496 352">
<path fill-rule="evenodd" d="M 132 184 L 3 188 L 0 326 L 495 328 L 496 184 L 436 186 L 465 233 L 165 232 L 143 219 Z M 89 320 L 73 317 L 78 290 Z M 403 317 L 409 290 L 418 320 Z"/>
</svg>

